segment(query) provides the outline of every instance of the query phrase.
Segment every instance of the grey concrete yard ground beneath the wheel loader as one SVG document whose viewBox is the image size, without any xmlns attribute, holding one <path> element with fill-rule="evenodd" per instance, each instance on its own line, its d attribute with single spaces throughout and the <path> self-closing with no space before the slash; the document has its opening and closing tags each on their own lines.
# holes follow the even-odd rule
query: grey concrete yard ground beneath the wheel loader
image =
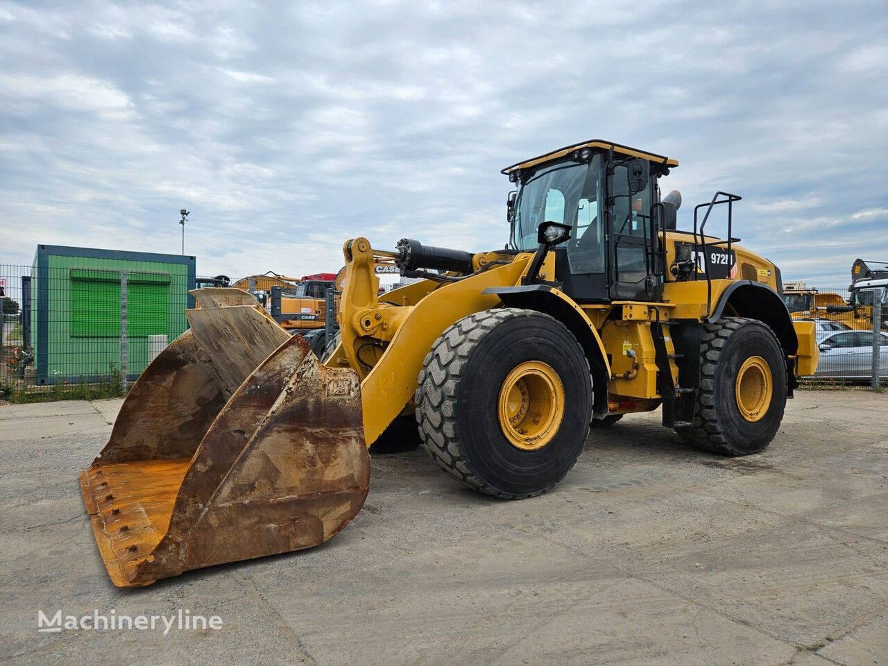
<svg viewBox="0 0 888 666">
<path fill-rule="evenodd" d="M 77 485 L 118 406 L 0 407 L 4 663 L 888 663 L 884 394 L 798 392 L 742 459 L 630 416 L 523 502 L 377 456 L 329 543 L 140 590 L 108 581 Z M 179 608 L 222 629 L 36 630 L 38 609 Z"/>
</svg>

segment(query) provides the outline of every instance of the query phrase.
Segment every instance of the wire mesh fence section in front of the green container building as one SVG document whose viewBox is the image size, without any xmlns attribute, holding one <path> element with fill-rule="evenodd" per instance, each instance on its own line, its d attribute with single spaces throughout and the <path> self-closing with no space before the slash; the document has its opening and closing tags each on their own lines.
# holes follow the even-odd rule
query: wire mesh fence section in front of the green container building
<svg viewBox="0 0 888 666">
<path fill-rule="evenodd" d="M 151 262 L 57 263 L 0 265 L 0 398 L 122 395 L 187 328 L 194 275 Z"/>
</svg>

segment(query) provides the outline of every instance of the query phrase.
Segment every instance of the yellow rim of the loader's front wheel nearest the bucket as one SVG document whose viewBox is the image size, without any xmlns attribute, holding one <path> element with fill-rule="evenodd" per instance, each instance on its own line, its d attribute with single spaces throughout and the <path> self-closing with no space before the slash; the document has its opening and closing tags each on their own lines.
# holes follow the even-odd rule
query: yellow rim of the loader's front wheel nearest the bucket
<svg viewBox="0 0 888 666">
<path fill-rule="evenodd" d="M 512 446 L 543 448 L 564 418 L 564 385 L 558 373 L 543 361 L 520 363 L 503 381 L 497 416 Z"/>
</svg>

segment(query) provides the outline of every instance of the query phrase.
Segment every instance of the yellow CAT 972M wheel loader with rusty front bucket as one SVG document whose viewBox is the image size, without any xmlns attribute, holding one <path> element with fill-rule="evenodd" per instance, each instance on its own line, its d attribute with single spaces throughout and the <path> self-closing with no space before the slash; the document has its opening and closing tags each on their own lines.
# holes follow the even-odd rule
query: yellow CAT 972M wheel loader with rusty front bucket
<svg viewBox="0 0 888 666">
<path fill-rule="evenodd" d="M 191 328 L 81 475 L 111 580 L 322 543 L 361 510 L 368 448 L 387 437 L 515 499 L 564 479 L 591 424 L 632 412 L 660 408 L 719 454 L 764 449 L 816 367 L 813 322 L 790 319 L 777 267 L 733 238 L 740 197 L 676 229 L 680 195 L 660 194 L 676 166 L 586 141 L 503 170 L 503 250 L 345 242 L 340 339 L 322 361 L 244 292 L 195 290 Z M 707 230 L 718 210 L 724 240 Z M 380 263 L 421 279 L 380 297 Z"/>
</svg>

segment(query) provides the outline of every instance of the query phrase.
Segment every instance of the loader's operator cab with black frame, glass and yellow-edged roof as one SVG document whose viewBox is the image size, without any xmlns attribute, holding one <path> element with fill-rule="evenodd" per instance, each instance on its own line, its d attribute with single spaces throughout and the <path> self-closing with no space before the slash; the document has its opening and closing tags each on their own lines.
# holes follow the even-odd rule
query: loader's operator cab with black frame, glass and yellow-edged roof
<svg viewBox="0 0 888 666">
<path fill-rule="evenodd" d="M 676 166 L 662 155 L 593 140 L 507 167 L 503 173 L 518 186 L 509 199 L 510 247 L 536 250 L 543 222 L 569 226 L 570 238 L 552 248 L 565 293 L 585 303 L 658 300 L 652 211 L 660 203 L 658 178 Z M 676 207 L 663 206 L 665 226 L 674 228 Z"/>
</svg>

